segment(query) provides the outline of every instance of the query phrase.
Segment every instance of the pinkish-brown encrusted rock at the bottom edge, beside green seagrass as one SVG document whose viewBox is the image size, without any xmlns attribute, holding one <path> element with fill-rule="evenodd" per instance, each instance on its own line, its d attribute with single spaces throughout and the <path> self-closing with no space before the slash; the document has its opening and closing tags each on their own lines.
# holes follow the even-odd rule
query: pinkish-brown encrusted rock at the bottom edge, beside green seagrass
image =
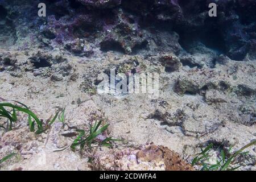
<svg viewBox="0 0 256 182">
<path fill-rule="evenodd" d="M 168 147 L 148 144 L 126 148 L 110 154 L 99 152 L 92 164 L 98 170 L 193 171 L 193 167 Z"/>
</svg>

